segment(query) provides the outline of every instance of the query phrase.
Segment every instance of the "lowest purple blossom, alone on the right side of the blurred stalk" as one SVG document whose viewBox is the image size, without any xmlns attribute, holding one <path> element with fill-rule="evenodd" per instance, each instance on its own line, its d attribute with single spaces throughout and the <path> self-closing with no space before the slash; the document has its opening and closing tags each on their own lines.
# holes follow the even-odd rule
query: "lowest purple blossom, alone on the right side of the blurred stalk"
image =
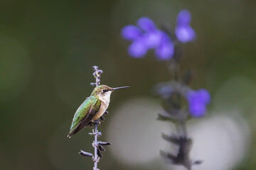
<svg viewBox="0 0 256 170">
<path fill-rule="evenodd" d="M 199 118 L 206 113 L 206 105 L 210 103 L 210 94 L 206 89 L 188 91 L 186 94 L 189 112 L 193 117 Z"/>
</svg>

